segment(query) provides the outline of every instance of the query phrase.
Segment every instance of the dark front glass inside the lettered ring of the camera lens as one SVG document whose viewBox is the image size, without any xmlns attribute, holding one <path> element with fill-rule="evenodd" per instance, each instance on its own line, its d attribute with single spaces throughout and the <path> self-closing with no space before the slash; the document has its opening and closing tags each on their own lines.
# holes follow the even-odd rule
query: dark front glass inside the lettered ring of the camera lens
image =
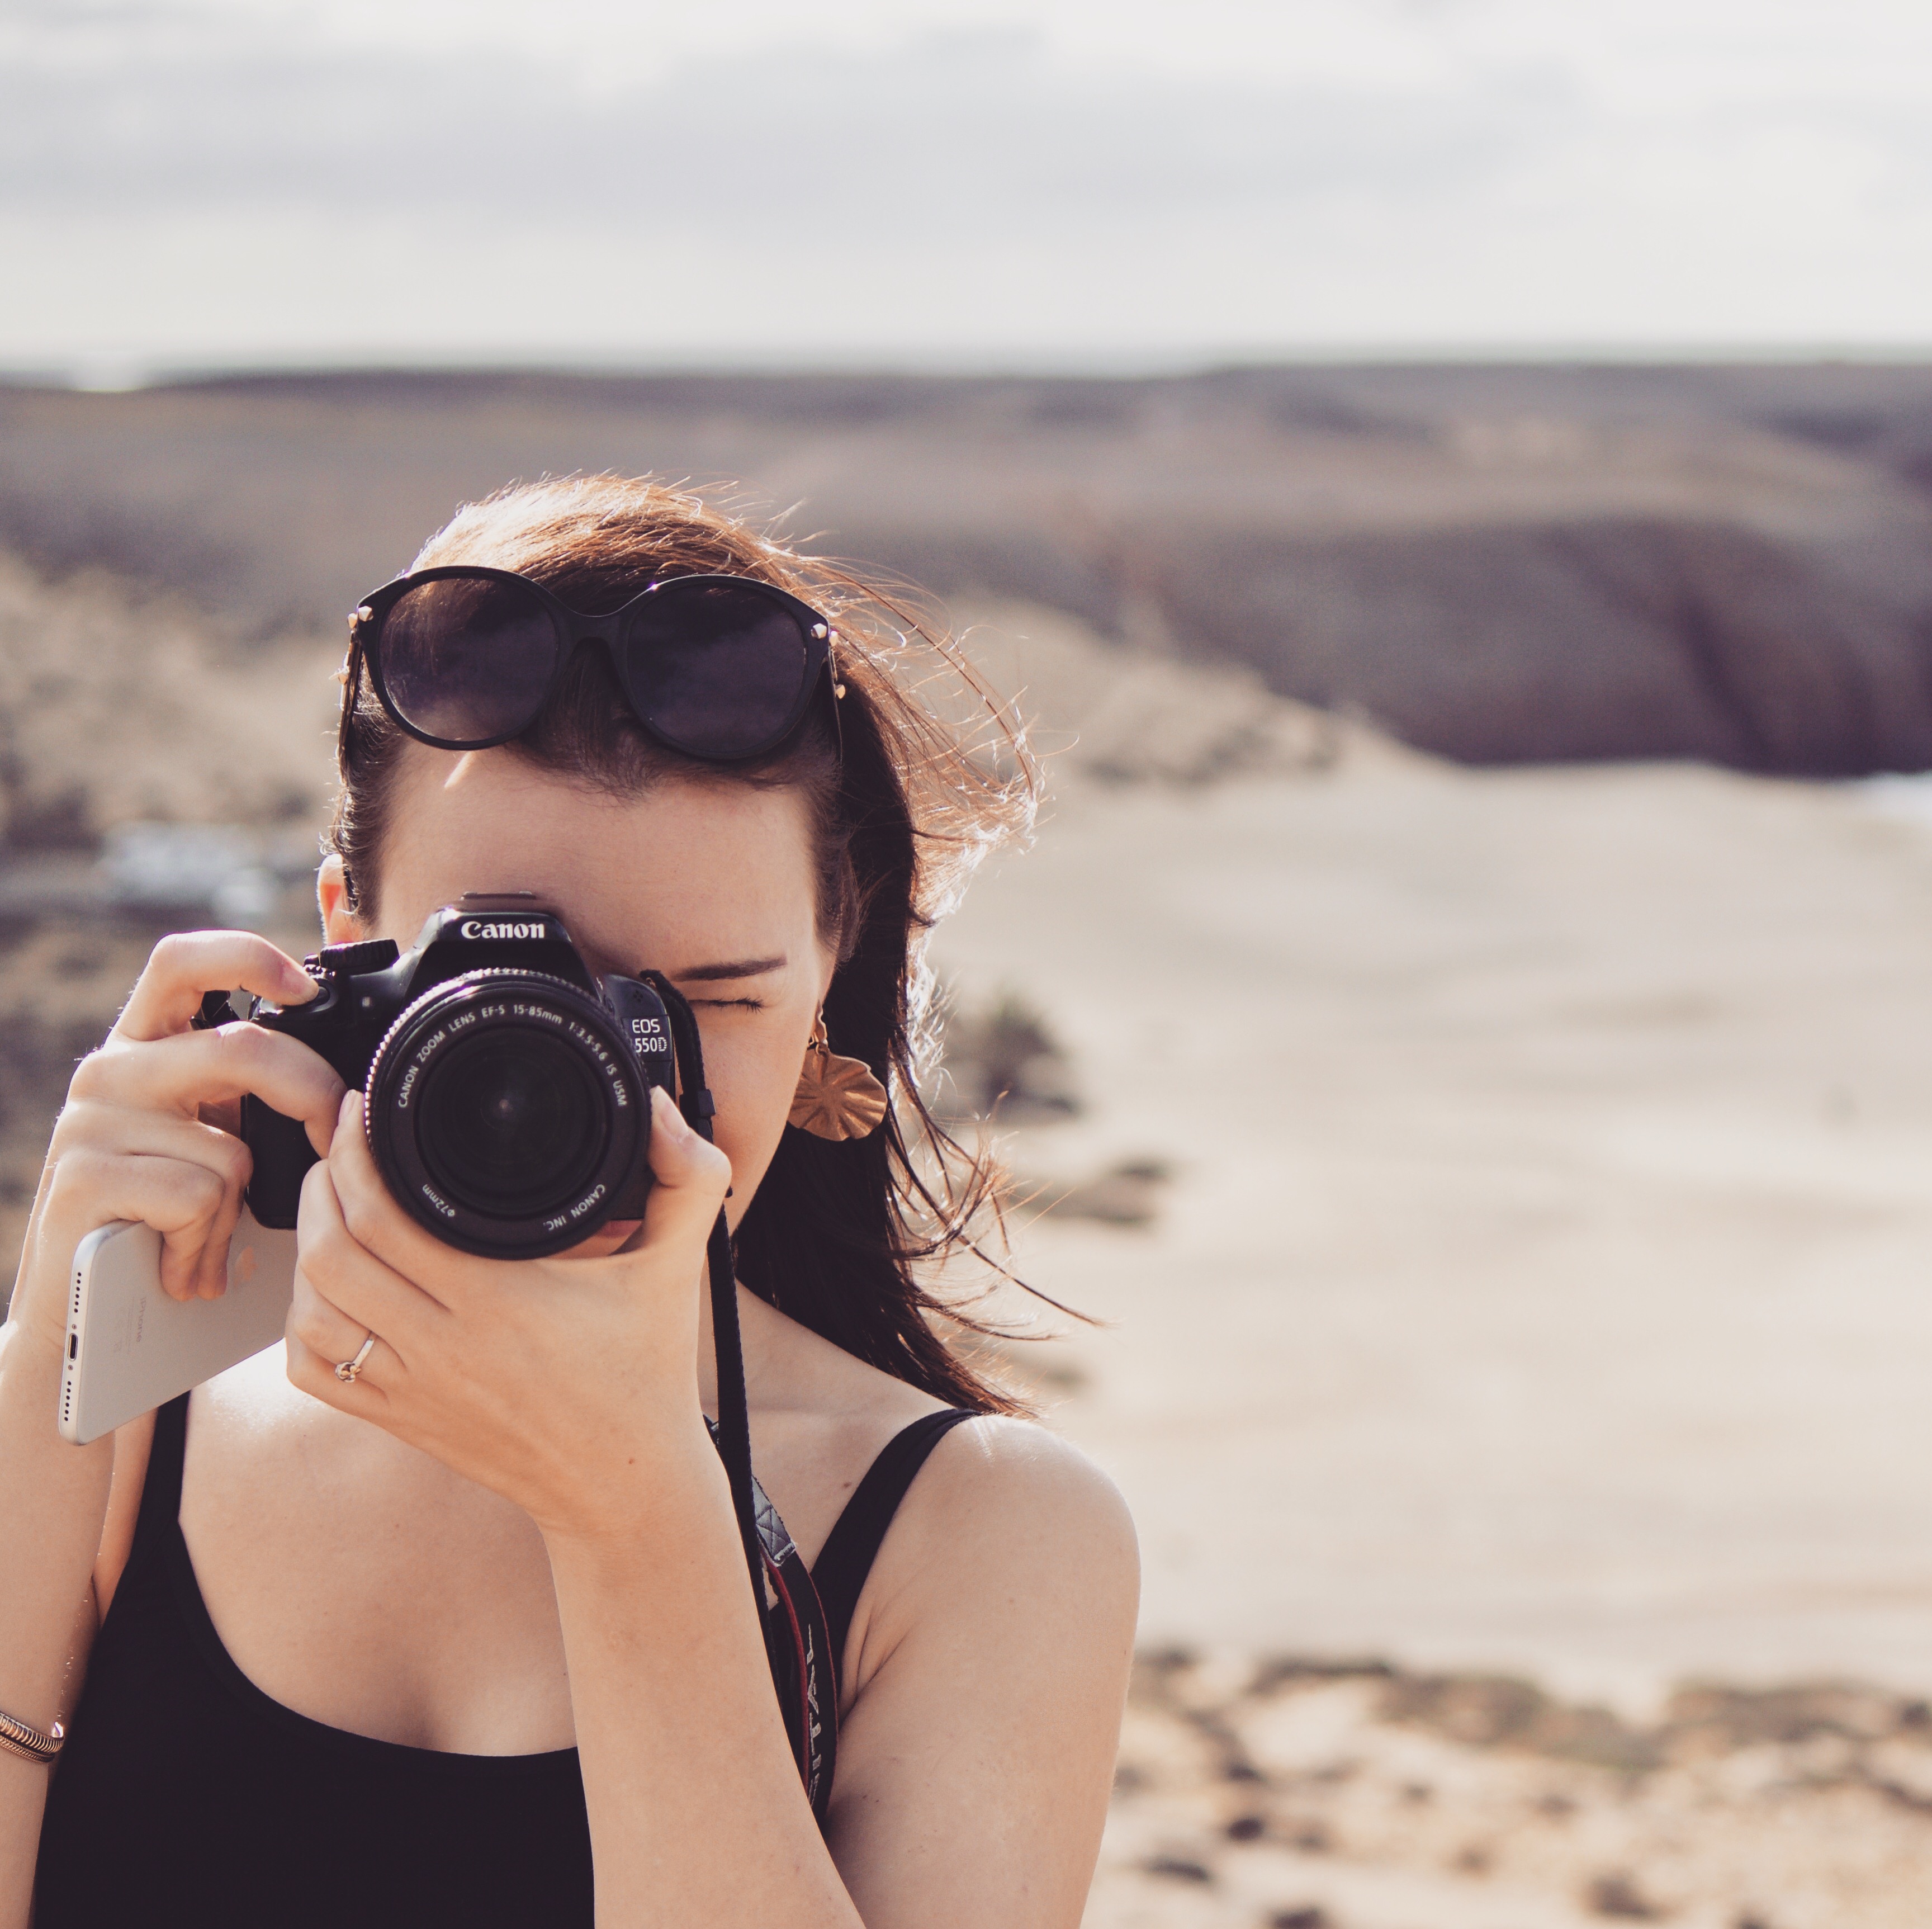
<svg viewBox="0 0 1932 1929">
<path fill-rule="evenodd" d="M 458 1204 L 535 1218 L 572 1204 L 595 1177 L 609 1104 L 560 1038 L 500 1024 L 444 1048 L 413 1100 L 415 1142 Z"/>
</svg>

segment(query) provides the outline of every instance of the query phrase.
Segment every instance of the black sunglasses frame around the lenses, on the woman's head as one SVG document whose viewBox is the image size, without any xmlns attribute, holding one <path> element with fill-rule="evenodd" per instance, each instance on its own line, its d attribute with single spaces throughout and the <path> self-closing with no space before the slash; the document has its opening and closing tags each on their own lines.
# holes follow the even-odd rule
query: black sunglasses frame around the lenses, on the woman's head
<svg viewBox="0 0 1932 1929">
<path fill-rule="evenodd" d="M 551 675 L 543 684 L 543 696 L 537 698 L 535 709 L 529 717 L 520 723 L 514 731 L 502 731 L 497 736 L 469 738 L 448 738 L 431 736 L 427 731 L 417 729 L 408 717 L 396 707 L 388 694 L 388 684 L 383 677 L 383 624 L 388 613 L 412 591 L 419 590 L 423 584 L 431 582 L 502 582 L 516 584 L 520 590 L 527 590 L 551 619 L 551 632 L 556 638 L 556 661 L 551 665 Z M 736 590 L 750 590 L 771 603 L 777 603 L 796 624 L 800 632 L 800 642 L 806 646 L 806 673 L 798 684 L 798 698 L 792 704 L 792 711 L 786 717 L 782 729 L 775 731 L 769 738 L 759 742 L 752 750 L 740 750 L 734 756 L 721 758 L 713 752 L 690 750 L 680 744 L 674 736 L 657 729 L 649 717 L 638 707 L 638 700 L 630 688 L 630 680 L 624 675 L 624 646 L 634 628 L 634 619 L 643 609 L 657 609 L 663 605 L 663 597 L 676 595 L 680 590 L 730 584 Z M 833 655 L 833 646 L 838 640 L 838 632 L 831 626 L 831 620 L 810 603 L 800 601 L 786 590 L 777 588 L 777 584 L 759 582 L 755 576 L 732 576 L 728 572 L 703 574 L 703 576 L 665 576 L 659 582 L 647 584 L 638 595 L 634 595 L 620 609 L 611 611 L 605 617 L 585 615 L 582 609 L 572 609 L 560 597 L 553 595 L 541 582 L 531 582 L 529 576 L 520 576 L 516 570 L 489 568 L 481 562 L 442 562 L 435 568 L 415 570 L 408 576 L 396 576 L 383 584 L 381 590 L 371 590 L 357 607 L 350 613 L 350 655 L 344 665 L 344 688 L 342 688 L 342 731 L 350 729 L 355 715 L 355 688 L 361 680 L 361 669 L 369 669 L 369 686 L 377 694 L 377 702 L 388 713 L 396 729 L 413 736 L 419 744 L 429 744 L 433 750 L 495 750 L 498 744 L 506 744 L 543 715 L 543 705 L 551 702 L 556 692 L 556 684 L 564 671 L 576 661 L 578 651 L 585 644 L 601 644 L 605 651 L 605 661 L 611 665 L 611 675 L 616 680 L 618 690 L 624 692 L 624 702 L 630 704 L 632 715 L 638 719 L 641 729 L 657 738 L 680 756 L 697 758 L 705 763 L 750 763 L 753 758 L 767 756 L 777 750 L 800 723 L 806 721 L 806 711 L 811 707 L 813 696 L 817 696 L 823 686 L 833 711 L 833 738 L 842 750 L 842 731 L 838 723 L 838 698 L 844 696 L 844 684 L 838 678 L 838 667 Z"/>
</svg>

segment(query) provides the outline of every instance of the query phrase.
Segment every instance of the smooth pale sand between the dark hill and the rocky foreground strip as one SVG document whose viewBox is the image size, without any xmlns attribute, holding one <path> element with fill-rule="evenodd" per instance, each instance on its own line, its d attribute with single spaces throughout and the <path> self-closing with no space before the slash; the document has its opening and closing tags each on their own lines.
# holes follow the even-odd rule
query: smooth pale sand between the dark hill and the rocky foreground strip
<svg viewBox="0 0 1932 1929">
<path fill-rule="evenodd" d="M 1689 767 L 1068 785 L 943 932 L 1173 1166 L 1026 1237 L 1153 1641 L 1932 1689 L 1932 837 Z"/>
</svg>

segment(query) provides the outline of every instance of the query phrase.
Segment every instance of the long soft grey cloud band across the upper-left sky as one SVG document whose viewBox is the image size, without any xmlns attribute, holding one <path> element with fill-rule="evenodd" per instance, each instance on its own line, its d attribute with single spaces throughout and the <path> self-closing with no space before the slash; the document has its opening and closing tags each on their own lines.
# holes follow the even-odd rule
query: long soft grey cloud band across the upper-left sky
<svg viewBox="0 0 1932 1929">
<path fill-rule="evenodd" d="M 0 205 L 408 205 L 643 232 L 786 215 L 858 230 L 1134 224 L 1466 191 L 1557 137 L 1567 106 L 1528 77 L 1424 101 L 1086 77 L 1012 33 L 701 62 L 597 93 L 491 52 L 371 70 L 193 35 L 139 60 L 0 79 Z"/>
</svg>

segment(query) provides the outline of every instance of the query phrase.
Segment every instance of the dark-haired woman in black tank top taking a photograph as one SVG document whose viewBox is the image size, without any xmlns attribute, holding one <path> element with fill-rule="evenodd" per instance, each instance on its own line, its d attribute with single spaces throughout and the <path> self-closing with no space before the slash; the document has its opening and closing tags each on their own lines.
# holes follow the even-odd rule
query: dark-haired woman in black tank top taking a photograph
<svg viewBox="0 0 1932 1929">
<path fill-rule="evenodd" d="M 690 999 L 717 1144 L 659 1104 L 641 1227 L 469 1258 L 390 1198 L 359 1094 L 317 1053 L 191 1028 L 211 990 L 307 997 L 298 964 L 232 932 L 155 951 L 75 1073 L 0 1355 L 0 1711 L 29 1736 L 71 1726 L 52 1774 L 0 1747 L 0 1921 L 568 1923 L 591 1919 L 595 1881 L 599 1923 L 1072 1925 L 1132 1529 L 941 1341 L 914 1264 L 962 1237 L 976 1181 L 902 1135 L 927 1123 L 920 939 L 1014 800 L 900 680 L 879 605 L 692 497 L 506 491 L 431 541 L 417 568 L 435 564 L 518 572 L 593 615 L 668 578 L 744 578 L 842 630 L 753 758 L 692 754 L 674 705 L 645 721 L 597 642 L 529 630 L 512 661 L 493 632 L 493 678 L 464 688 L 427 657 L 408 682 L 406 599 L 354 638 L 328 941 L 408 945 L 464 893 L 537 893 L 593 970 L 655 966 Z M 421 740 L 491 723 L 514 736 Z M 815 1044 L 891 1080 L 879 1131 L 786 1125 Z M 286 1372 L 261 1355 L 66 1446 L 75 1243 L 145 1220 L 168 1289 L 216 1293 L 243 1092 L 323 1154 Z M 703 1421 L 721 1202 L 757 1479 L 833 1620 L 823 1830 Z"/>
</svg>

